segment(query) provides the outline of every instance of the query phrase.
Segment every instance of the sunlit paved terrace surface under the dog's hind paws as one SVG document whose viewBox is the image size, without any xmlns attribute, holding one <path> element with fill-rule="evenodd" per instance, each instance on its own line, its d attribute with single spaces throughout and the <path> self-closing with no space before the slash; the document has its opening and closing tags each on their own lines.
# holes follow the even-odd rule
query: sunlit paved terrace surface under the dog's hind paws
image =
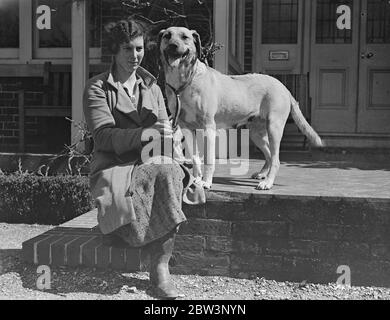
<svg viewBox="0 0 390 320">
<path fill-rule="evenodd" d="M 264 195 L 321 196 L 390 199 L 390 159 L 388 163 L 348 161 L 288 161 L 281 163 L 270 191 L 257 191 L 257 180 L 249 177 L 259 171 L 263 160 L 249 160 L 249 170 L 233 176 L 239 164 L 218 165 L 213 190 Z M 244 166 L 245 168 L 245 166 Z"/>
</svg>

